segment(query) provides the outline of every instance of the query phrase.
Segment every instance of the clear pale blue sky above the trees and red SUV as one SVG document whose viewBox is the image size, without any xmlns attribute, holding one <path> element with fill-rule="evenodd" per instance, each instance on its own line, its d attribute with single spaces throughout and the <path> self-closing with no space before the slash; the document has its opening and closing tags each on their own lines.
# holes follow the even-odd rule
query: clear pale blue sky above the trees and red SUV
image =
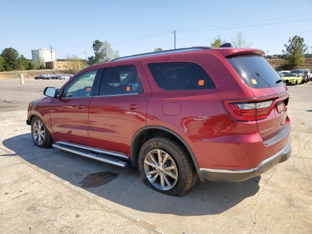
<svg viewBox="0 0 312 234">
<path fill-rule="evenodd" d="M 253 48 L 281 54 L 294 35 L 312 49 L 312 0 L 0 0 L 0 52 L 52 46 L 57 58 L 93 56 L 107 40 L 120 56 L 231 42 L 242 32 Z"/>
</svg>

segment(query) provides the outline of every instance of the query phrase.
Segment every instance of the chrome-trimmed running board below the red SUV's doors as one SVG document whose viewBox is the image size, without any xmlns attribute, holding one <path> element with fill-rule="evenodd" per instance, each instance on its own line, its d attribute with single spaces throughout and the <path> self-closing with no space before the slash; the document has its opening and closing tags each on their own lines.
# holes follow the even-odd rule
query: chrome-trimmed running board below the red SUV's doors
<svg viewBox="0 0 312 234">
<path fill-rule="evenodd" d="M 84 156 L 84 157 L 88 157 L 100 162 L 106 162 L 106 163 L 110 163 L 119 167 L 126 167 L 128 165 L 127 162 L 121 161 L 119 158 L 114 158 L 114 155 L 108 155 L 108 154 L 94 154 L 93 152 L 88 152 L 87 149 L 81 148 L 81 147 L 76 147 L 76 144 L 71 144 L 68 143 L 70 145 L 67 144 L 63 144 L 63 143 L 67 143 L 67 142 L 56 142 L 52 145 L 53 148 L 62 150 L 62 151 L 66 151 L 69 153 L 73 153 L 79 156 Z M 75 145 L 75 146 L 71 146 L 71 145 Z M 86 147 L 89 148 L 89 147 Z M 93 149 L 93 148 L 91 148 Z M 95 150 L 95 149 L 93 149 Z M 98 149 L 96 149 L 98 150 Z M 105 151 L 106 152 L 106 151 Z M 110 151 L 107 151 L 109 153 L 111 153 Z"/>
</svg>

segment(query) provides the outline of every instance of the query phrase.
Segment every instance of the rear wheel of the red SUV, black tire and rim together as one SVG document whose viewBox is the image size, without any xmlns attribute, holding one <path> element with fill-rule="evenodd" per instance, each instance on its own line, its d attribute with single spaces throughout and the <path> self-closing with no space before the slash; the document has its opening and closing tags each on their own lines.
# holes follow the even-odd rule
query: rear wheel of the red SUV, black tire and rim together
<svg viewBox="0 0 312 234">
<path fill-rule="evenodd" d="M 183 196 L 197 180 L 188 152 L 172 138 L 154 137 L 146 141 L 139 153 L 138 167 L 147 186 L 167 195 Z"/>
</svg>

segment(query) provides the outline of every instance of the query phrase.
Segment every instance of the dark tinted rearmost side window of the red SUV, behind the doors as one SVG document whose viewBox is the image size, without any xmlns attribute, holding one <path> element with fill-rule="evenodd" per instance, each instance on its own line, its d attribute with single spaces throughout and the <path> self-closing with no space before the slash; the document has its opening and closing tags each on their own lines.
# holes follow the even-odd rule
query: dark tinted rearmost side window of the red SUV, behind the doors
<svg viewBox="0 0 312 234">
<path fill-rule="evenodd" d="M 157 85 L 165 90 L 214 89 L 215 84 L 207 72 L 193 62 L 149 63 Z"/>
</svg>

